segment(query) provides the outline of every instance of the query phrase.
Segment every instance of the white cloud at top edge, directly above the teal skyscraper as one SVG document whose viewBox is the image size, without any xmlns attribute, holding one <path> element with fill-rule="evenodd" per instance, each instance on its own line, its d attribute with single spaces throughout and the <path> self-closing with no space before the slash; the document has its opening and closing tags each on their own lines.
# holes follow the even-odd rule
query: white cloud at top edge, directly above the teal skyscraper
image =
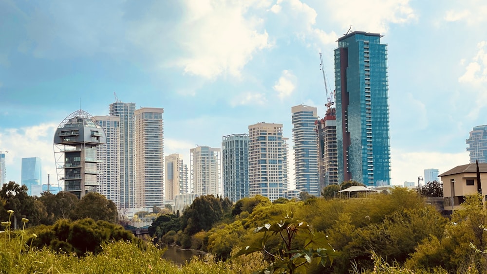
<svg viewBox="0 0 487 274">
<path fill-rule="evenodd" d="M 404 24 L 417 19 L 409 0 L 340 0 L 327 1 L 332 18 L 343 29 L 385 34 L 389 24 Z"/>
</svg>

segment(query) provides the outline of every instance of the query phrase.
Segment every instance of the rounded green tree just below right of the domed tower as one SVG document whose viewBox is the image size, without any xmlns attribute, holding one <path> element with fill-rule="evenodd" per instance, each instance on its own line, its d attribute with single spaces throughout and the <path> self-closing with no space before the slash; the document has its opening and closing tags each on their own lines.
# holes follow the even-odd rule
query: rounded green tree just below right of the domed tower
<svg viewBox="0 0 487 274">
<path fill-rule="evenodd" d="M 72 212 L 73 219 L 91 218 L 95 221 L 105 220 L 114 223 L 117 221 L 117 217 L 118 212 L 115 203 L 96 192 L 90 192 L 83 196 Z"/>
</svg>

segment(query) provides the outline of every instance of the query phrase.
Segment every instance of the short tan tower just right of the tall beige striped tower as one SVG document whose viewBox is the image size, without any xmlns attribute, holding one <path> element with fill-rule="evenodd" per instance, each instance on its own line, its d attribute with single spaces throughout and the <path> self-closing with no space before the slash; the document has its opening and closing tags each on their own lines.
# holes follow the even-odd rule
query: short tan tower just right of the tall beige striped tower
<svg viewBox="0 0 487 274">
<path fill-rule="evenodd" d="M 170 154 L 165 158 L 166 164 L 166 200 L 174 201 L 175 196 L 189 193 L 187 164 L 183 155 Z"/>
</svg>

